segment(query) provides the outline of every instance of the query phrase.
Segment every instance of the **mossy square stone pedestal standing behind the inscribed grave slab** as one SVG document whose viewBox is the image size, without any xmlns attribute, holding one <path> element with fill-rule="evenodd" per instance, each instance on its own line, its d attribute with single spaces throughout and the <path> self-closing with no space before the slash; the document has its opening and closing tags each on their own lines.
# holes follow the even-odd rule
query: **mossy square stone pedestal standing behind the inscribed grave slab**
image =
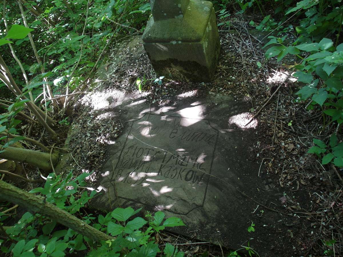
<svg viewBox="0 0 343 257">
<path fill-rule="evenodd" d="M 210 82 L 220 52 L 213 5 L 201 0 L 152 0 L 144 48 L 158 76 Z"/>
</svg>

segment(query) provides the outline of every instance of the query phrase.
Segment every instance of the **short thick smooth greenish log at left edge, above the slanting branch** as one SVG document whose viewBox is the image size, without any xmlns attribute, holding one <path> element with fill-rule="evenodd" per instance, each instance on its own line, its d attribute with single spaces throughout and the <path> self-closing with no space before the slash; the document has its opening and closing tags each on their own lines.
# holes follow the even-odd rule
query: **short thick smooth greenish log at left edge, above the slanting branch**
<svg viewBox="0 0 343 257">
<path fill-rule="evenodd" d="M 2 149 L 2 145 L 0 145 L 0 149 Z M 27 164 L 31 164 L 35 167 L 40 169 L 51 171 L 51 162 L 50 162 L 50 154 L 41 151 L 34 151 L 16 147 L 6 147 L 3 150 L 4 152 L 0 153 L 0 158 L 16 161 L 16 162 L 24 162 Z M 51 155 L 52 164 L 55 164 L 58 160 L 57 154 Z"/>
</svg>

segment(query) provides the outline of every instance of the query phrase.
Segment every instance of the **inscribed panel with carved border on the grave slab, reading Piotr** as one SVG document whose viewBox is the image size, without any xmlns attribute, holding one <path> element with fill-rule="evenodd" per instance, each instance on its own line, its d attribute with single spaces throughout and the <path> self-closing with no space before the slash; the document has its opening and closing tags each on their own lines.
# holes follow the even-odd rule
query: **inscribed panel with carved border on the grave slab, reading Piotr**
<svg viewBox="0 0 343 257">
<path fill-rule="evenodd" d="M 187 215 L 204 205 L 218 131 L 205 120 L 148 115 L 132 122 L 105 187 L 115 183 L 121 199 Z"/>
</svg>

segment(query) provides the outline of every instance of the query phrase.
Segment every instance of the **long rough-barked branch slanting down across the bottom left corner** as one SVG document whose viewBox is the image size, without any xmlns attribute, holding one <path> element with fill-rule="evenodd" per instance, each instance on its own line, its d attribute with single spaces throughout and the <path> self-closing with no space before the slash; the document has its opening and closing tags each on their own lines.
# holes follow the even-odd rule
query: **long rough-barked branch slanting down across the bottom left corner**
<svg viewBox="0 0 343 257">
<path fill-rule="evenodd" d="M 39 213 L 70 228 L 94 241 L 113 240 L 114 238 L 87 225 L 70 213 L 45 201 L 41 196 L 27 193 L 4 181 L 0 181 L 0 198 L 27 208 L 31 213 Z"/>
</svg>

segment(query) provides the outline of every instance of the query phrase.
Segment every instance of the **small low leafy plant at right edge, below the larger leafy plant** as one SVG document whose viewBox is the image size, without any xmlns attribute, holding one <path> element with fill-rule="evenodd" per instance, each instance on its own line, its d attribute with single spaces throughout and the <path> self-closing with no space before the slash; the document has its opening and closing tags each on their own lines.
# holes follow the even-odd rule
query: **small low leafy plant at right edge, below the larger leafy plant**
<svg viewBox="0 0 343 257">
<path fill-rule="evenodd" d="M 309 150 L 309 154 L 316 154 L 322 159 L 322 165 L 333 163 L 337 167 L 343 167 L 343 142 L 337 142 L 336 134 L 330 136 L 329 145 L 326 145 L 322 140 L 313 139 L 315 144 Z"/>
</svg>

